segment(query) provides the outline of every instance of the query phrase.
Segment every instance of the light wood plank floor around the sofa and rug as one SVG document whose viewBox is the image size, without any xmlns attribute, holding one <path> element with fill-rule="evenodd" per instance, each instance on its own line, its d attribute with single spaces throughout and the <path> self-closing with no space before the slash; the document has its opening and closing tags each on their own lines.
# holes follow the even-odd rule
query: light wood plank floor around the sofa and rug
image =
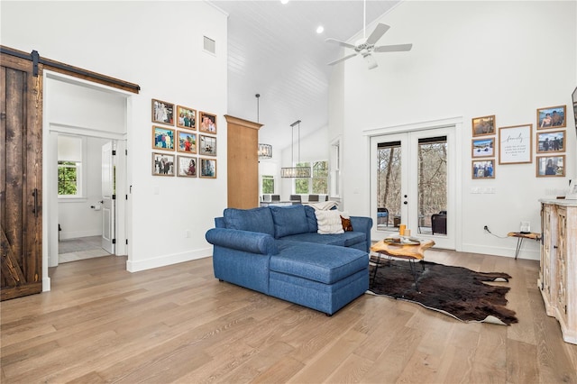
<svg viewBox="0 0 577 384">
<path fill-rule="evenodd" d="M 212 259 L 130 273 L 124 257 L 50 270 L 52 291 L 1 303 L 2 383 L 577 382 L 536 288 L 537 261 L 430 250 L 513 276 L 519 323 L 465 324 L 364 295 L 332 317 L 219 282 Z"/>
</svg>

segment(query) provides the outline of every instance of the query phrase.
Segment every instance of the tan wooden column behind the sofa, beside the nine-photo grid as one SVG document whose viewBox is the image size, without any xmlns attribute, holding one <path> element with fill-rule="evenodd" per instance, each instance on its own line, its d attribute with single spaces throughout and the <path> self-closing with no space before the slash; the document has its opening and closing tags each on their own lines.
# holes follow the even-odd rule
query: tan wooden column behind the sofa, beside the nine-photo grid
<svg viewBox="0 0 577 384">
<path fill-rule="evenodd" d="M 259 206 L 259 130 L 261 123 L 224 115 L 227 123 L 228 207 Z"/>
</svg>

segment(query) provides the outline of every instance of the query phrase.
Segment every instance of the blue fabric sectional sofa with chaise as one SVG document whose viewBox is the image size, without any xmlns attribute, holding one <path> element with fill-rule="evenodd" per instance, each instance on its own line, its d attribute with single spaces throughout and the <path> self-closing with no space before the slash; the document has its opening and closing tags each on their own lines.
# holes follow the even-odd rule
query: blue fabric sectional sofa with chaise
<svg viewBox="0 0 577 384">
<path fill-rule="evenodd" d="M 369 288 L 371 217 L 317 233 L 310 206 L 224 209 L 206 232 L 215 278 L 333 315 Z"/>
</svg>

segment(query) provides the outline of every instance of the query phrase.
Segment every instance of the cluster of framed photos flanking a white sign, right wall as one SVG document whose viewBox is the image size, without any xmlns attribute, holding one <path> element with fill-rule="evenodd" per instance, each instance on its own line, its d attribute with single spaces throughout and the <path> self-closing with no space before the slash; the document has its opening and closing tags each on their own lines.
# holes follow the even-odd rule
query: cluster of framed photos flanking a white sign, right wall
<svg viewBox="0 0 577 384">
<path fill-rule="evenodd" d="M 532 163 L 534 152 L 537 178 L 564 177 L 566 109 L 566 105 L 538 108 L 535 136 L 533 123 L 497 130 L 494 114 L 473 118 L 472 179 L 495 178 L 496 165 Z"/>
</svg>

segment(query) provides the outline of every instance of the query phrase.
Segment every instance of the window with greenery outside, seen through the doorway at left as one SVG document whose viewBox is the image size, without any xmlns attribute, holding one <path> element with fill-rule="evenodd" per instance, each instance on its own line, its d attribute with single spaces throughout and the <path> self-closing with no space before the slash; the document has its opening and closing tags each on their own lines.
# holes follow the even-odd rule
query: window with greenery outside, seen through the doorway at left
<svg viewBox="0 0 577 384">
<path fill-rule="evenodd" d="M 82 197 L 82 149 L 84 139 L 58 136 L 58 196 Z"/>
</svg>

